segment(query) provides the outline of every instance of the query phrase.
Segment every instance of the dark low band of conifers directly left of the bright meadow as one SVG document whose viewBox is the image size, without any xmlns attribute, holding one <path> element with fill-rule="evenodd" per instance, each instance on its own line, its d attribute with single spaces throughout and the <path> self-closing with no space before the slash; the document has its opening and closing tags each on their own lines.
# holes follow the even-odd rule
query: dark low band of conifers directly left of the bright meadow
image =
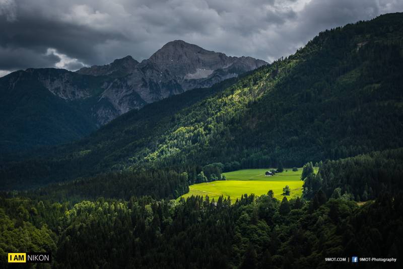
<svg viewBox="0 0 403 269">
<path fill-rule="evenodd" d="M 207 178 L 206 181 L 200 182 L 207 182 Z M 149 170 L 147 172 L 108 173 L 51 184 L 34 190 L 29 195 L 32 197 L 40 195 L 46 199 L 77 203 L 83 199 L 96 199 L 97 197 L 129 199 L 133 195 L 150 195 L 155 199 L 173 199 L 187 192 L 189 192 L 187 173 L 172 170 Z"/>
</svg>

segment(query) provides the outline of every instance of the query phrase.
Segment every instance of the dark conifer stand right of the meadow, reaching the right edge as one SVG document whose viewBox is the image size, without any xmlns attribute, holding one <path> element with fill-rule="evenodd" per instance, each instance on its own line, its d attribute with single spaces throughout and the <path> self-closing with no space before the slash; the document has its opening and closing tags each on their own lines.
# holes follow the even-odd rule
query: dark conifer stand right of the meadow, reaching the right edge
<svg viewBox="0 0 403 269">
<path fill-rule="evenodd" d="M 358 201 L 358 196 L 368 200 L 383 192 L 403 189 L 402 174 L 403 149 L 397 149 L 326 161 L 317 176 L 321 177 L 321 188 L 328 197 L 352 195 Z"/>
</svg>

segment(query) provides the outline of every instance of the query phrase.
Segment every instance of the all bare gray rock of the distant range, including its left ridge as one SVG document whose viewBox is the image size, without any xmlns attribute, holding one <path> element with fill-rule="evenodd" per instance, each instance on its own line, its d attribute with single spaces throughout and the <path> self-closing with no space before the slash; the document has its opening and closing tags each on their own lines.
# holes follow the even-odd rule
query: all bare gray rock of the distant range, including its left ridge
<svg viewBox="0 0 403 269">
<path fill-rule="evenodd" d="M 19 76 L 38 81 L 66 102 L 81 102 L 81 111 L 100 126 L 132 109 L 190 89 L 210 87 L 263 64 L 263 60 L 231 57 L 176 40 L 142 62 L 126 56 L 77 72 L 27 69 L 19 71 Z"/>
</svg>

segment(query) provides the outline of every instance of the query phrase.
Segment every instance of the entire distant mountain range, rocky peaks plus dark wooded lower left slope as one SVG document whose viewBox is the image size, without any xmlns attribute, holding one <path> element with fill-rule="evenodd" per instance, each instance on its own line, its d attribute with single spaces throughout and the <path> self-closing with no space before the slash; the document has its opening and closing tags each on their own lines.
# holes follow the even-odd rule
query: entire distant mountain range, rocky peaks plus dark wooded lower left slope
<svg viewBox="0 0 403 269">
<path fill-rule="evenodd" d="M 132 109 L 264 64 L 175 40 L 142 62 L 126 56 L 77 72 L 16 71 L 0 78 L 0 149 L 72 141 Z"/>
</svg>

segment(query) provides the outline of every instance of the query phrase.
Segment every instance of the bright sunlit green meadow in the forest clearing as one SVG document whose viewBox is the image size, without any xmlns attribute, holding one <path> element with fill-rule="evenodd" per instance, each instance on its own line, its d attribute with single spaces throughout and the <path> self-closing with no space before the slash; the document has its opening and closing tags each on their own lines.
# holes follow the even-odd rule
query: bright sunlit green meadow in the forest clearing
<svg viewBox="0 0 403 269">
<path fill-rule="evenodd" d="M 224 173 L 227 180 L 199 183 L 189 186 L 190 191 L 183 194 L 186 198 L 191 195 L 209 195 L 210 199 L 218 199 L 219 196 L 230 196 L 233 201 L 240 198 L 242 194 L 254 193 L 255 195 L 266 194 L 268 190 L 274 191 L 275 197 L 283 198 L 283 188 L 290 186 L 291 194 L 288 198 L 302 195 L 301 173 L 302 168 L 293 172 L 292 169 L 284 169 L 284 172 L 274 176 L 265 176 L 269 169 L 243 169 Z"/>
</svg>

